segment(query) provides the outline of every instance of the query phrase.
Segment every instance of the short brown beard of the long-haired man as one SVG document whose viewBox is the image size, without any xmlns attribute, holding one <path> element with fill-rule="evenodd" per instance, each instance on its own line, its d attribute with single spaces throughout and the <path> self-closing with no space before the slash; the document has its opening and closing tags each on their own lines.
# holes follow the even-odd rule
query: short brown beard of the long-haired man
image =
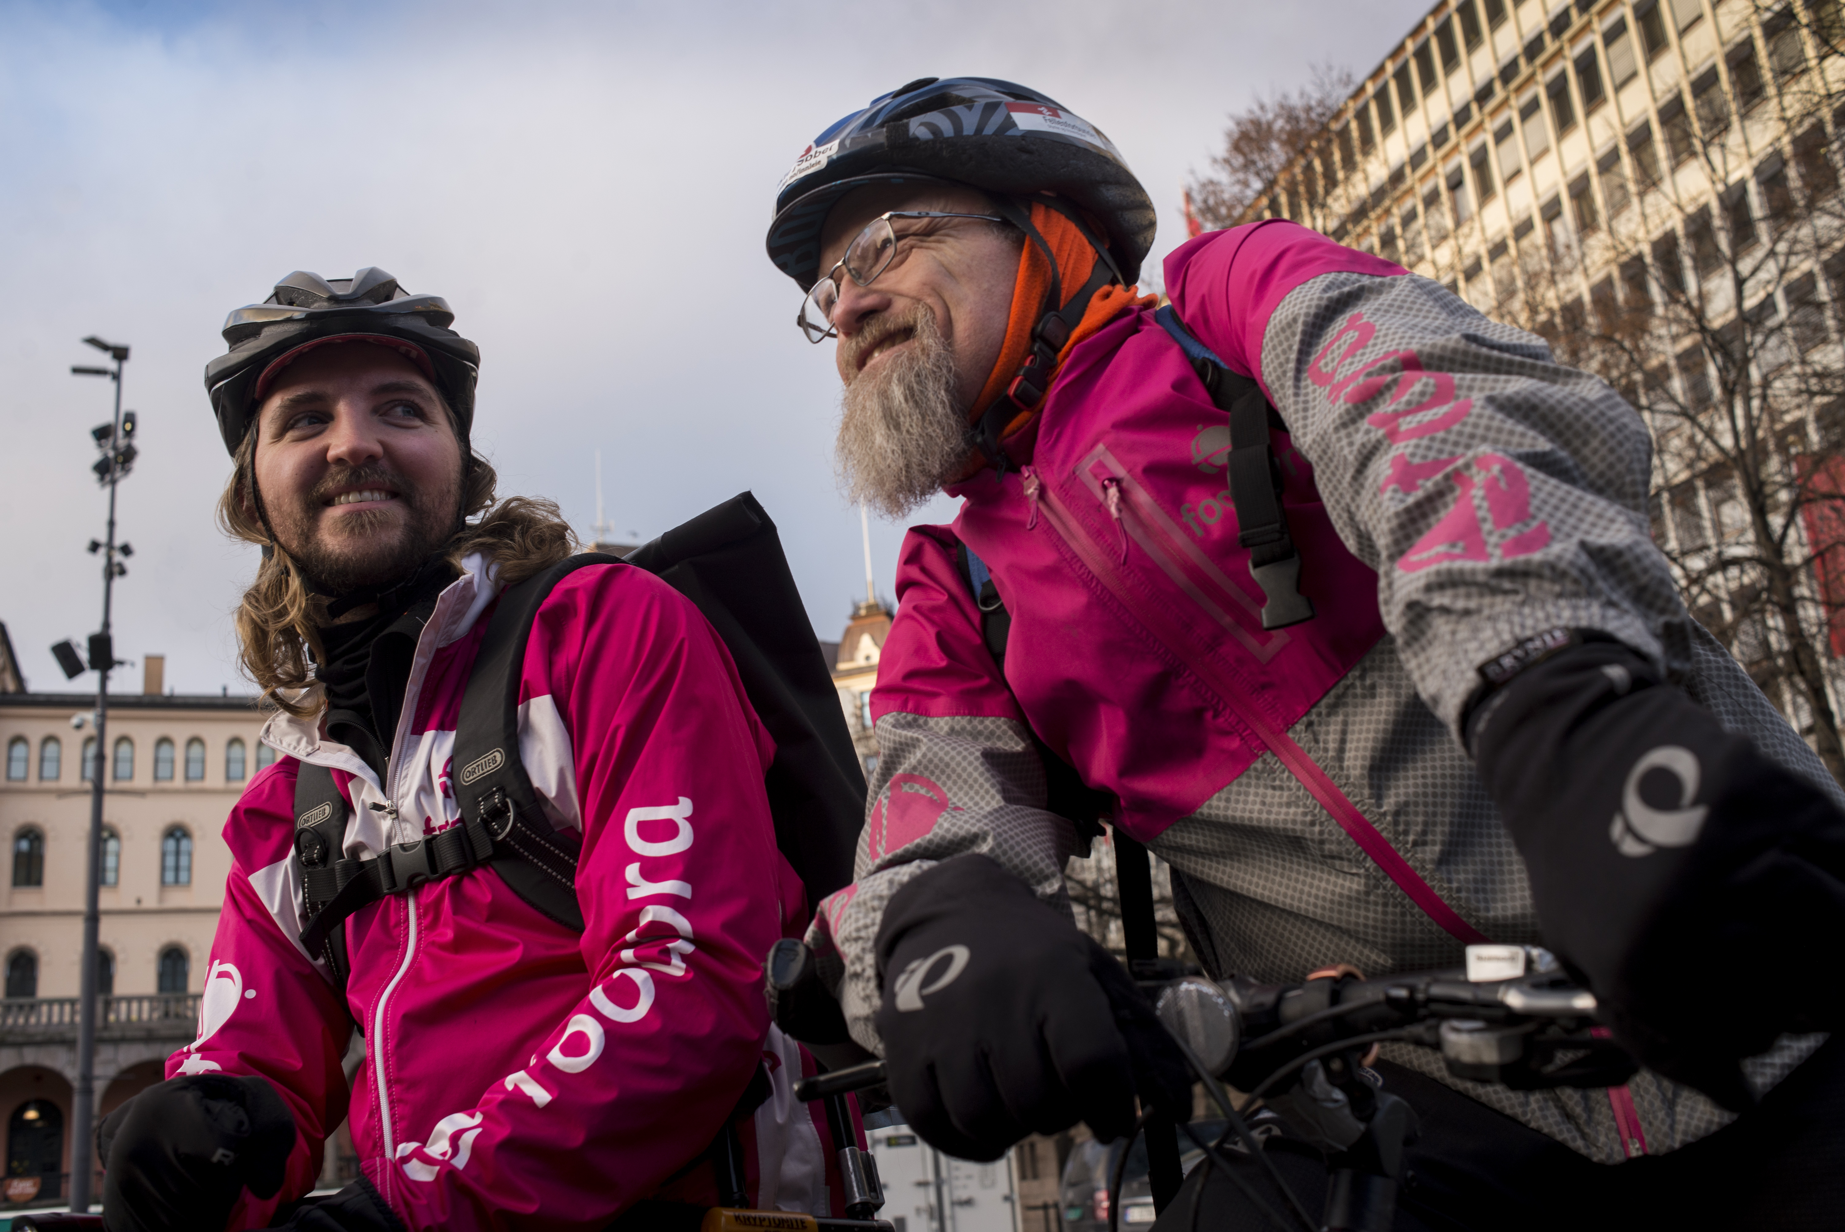
<svg viewBox="0 0 1845 1232">
<path fill-rule="evenodd" d="M 410 513 L 397 522 L 384 509 L 341 516 L 339 533 L 321 522 L 336 487 L 378 487 L 397 494 Z M 319 594 L 338 598 L 406 577 L 456 533 L 461 483 L 419 492 L 389 467 L 339 467 L 299 502 L 264 500 L 275 539 Z"/>
</svg>

